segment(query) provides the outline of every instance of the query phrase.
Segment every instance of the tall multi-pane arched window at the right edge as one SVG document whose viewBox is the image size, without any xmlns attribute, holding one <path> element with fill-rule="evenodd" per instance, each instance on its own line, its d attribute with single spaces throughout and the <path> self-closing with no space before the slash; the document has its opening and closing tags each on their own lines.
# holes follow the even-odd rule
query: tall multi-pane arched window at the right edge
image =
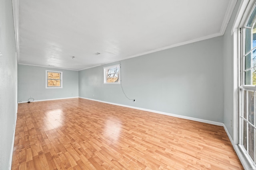
<svg viewBox="0 0 256 170">
<path fill-rule="evenodd" d="M 241 28 L 241 85 L 239 146 L 248 160 L 256 165 L 256 8 Z"/>
</svg>

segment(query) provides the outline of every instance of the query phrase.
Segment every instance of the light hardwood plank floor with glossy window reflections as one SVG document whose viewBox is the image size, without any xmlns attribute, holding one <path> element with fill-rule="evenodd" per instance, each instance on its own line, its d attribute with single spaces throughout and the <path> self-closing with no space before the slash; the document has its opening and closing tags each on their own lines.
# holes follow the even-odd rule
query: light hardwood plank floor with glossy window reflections
<svg viewBox="0 0 256 170">
<path fill-rule="evenodd" d="M 18 169 L 243 167 L 223 127 L 74 98 L 18 105 Z"/>
</svg>

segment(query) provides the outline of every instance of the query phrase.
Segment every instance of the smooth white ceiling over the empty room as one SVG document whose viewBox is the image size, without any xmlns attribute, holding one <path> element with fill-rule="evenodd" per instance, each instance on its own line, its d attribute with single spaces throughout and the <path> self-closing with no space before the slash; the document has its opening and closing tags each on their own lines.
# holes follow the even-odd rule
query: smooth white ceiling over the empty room
<svg viewBox="0 0 256 170">
<path fill-rule="evenodd" d="M 220 36 L 235 3 L 20 0 L 18 63 L 82 70 Z"/>
</svg>

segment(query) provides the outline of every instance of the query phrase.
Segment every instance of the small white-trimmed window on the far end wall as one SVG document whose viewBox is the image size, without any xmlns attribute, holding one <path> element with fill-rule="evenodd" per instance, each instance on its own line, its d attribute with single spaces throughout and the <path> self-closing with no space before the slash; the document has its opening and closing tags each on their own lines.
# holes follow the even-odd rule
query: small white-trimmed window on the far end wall
<svg viewBox="0 0 256 170">
<path fill-rule="evenodd" d="M 46 70 L 46 88 L 62 88 L 62 72 Z"/>
</svg>

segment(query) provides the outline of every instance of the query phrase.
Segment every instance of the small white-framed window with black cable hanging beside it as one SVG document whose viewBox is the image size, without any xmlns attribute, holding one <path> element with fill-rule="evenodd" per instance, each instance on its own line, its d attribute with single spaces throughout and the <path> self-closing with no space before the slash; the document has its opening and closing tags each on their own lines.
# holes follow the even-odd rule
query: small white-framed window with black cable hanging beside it
<svg viewBox="0 0 256 170">
<path fill-rule="evenodd" d="M 120 84 L 120 65 L 104 67 L 104 84 Z"/>
</svg>

